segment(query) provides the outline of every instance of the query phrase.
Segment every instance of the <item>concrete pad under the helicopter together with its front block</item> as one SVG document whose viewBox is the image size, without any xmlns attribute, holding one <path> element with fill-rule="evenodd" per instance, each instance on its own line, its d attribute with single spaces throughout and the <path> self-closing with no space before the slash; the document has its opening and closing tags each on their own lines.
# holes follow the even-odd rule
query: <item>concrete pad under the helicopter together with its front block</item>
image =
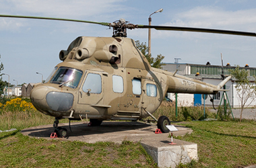
<svg viewBox="0 0 256 168">
<path fill-rule="evenodd" d="M 155 134 L 156 126 L 141 122 L 102 122 L 101 126 L 88 126 L 82 122 L 59 124 L 68 130 L 67 138 L 55 138 L 58 140 L 79 140 L 82 142 L 115 142 L 123 140 L 141 142 L 148 154 L 158 163 L 158 167 L 175 167 L 179 163 L 189 163 L 197 160 L 197 144 L 183 140 L 173 139 L 174 145 L 168 144 L 169 134 Z M 184 126 L 176 126 L 179 131 L 173 132 L 174 136 L 190 134 L 193 130 Z M 53 125 L 36 126 L 22 130 L 22 134 L 35 138 L 51 139 L 54 132 Z"/>
</svg>

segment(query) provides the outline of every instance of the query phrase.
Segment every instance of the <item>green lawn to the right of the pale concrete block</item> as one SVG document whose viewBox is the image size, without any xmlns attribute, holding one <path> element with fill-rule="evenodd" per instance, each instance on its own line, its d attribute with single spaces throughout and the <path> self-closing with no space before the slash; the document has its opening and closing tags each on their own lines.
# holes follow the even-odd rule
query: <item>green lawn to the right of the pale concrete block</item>
<svg viewBox="0 0 256 168">
<path fill-rule="evenodd" d="M 185 122 L 192 134 L 178 136 L 195 142 L 199 162 L 195 167 L 244 167 L 256 165 L 256 123 L 254 121 Z"/>
</svg>

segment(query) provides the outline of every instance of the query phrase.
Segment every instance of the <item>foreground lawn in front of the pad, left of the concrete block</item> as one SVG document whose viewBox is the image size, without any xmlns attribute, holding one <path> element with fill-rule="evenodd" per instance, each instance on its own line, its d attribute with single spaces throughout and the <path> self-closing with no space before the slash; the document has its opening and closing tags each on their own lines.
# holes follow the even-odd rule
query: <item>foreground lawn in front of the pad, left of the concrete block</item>
<svg viewBox="0 0 256 168">
<path fill-rule="evenodd" d="M 0 167 L 157 167 L 139 142 L 45 140 L 0 133 Z"/>
</svg>

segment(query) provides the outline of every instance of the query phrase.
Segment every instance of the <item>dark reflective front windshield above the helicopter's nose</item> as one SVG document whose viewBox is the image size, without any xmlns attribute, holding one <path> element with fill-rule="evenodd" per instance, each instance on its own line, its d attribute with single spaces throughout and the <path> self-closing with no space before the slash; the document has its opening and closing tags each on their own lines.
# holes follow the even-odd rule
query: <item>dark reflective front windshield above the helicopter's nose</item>
<svg viewBox="0 0 256 168">
<path fill-rule="evenodd" d="M 60 67 L 50 83 L 57 83 L 60 86 L 67 86 L 75 89 L 83 75 L 83 72 L 68 67 Z"/>
</svg>

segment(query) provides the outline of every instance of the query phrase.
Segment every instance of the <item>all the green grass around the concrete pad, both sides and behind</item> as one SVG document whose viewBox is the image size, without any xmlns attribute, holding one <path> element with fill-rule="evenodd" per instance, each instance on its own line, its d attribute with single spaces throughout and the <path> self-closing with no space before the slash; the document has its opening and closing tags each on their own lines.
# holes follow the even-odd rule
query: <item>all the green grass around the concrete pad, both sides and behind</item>
<svg viewBox="0 0 256 168">
<path fill-rule="evenodd" d="M 214 114 L 206 112 L 214 118 Z M 192 134 L 178 136 L 181 140 L 197 143 L 198 162 L 179 167 L 244 167 L 256 165 L 256 122 L 191 121 L 201 118 L 202 109 L 179 108 L 176 119 L 174 108 L 162 105 L 154 114 L 193 129 Z M 152 158 L 138 142 L 70 142 L 45 140 L 23 136 L 20 130 L 32 126 L 53 124 L 54 118 L 36 111 L 5 112 L 0 114 L 0 167 L 156 167 Z M 60 120 L 68 122 L 68 120 Z M 174 134 L 175 135 L 175 134 Z M 166 135 L 167 136 L 167 135 Z"/>
</svg>

